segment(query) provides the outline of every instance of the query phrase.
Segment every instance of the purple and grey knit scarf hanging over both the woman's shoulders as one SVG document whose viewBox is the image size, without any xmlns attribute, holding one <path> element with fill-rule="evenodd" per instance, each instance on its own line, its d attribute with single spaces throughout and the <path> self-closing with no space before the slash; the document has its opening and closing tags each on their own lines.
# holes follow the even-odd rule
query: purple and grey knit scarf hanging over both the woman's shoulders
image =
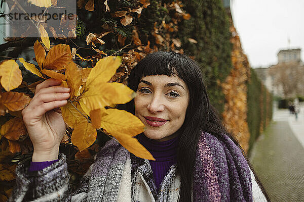
<svg viewBox="0 0 304 202">
<path fill-rule="evenodd" d="M 92 168 L 88 201 L 116 201 L 128 151 L 108 141 Z M 131 162 L 132 163 L 132 162 Z M 158 201 L 168 201 L 158 199 Z M 193 201 L 252 201 L 250 170 L 241 149 L 225 134 L 203 132 L 196 151 Z"/>
</svg>

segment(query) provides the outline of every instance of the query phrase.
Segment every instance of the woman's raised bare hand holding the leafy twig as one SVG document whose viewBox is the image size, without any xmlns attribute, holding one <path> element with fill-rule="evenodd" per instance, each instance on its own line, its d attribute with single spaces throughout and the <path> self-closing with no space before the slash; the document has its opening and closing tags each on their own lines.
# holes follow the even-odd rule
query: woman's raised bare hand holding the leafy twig
<svg viewBox="0 0 304 202">
<path fill-rule="evenodd" d="M 23 121 L 33 143 L 33 162 L 58 159 L 59 145 L 65 133 L 60 107 L 67 104 L 69 88 L 60 80 L 48 79 L 36 86 L 35 95 L 22 111 Z"/>
</svg>

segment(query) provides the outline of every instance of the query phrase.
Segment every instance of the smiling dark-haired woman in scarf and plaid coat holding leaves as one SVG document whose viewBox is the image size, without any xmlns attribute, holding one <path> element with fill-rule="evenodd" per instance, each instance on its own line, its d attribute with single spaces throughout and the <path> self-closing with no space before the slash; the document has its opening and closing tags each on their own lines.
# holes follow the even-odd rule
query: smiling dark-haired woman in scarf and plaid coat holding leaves
<svg viewBox="0 0 304 202">
<path fill-rule="evenodd" d="M 69 89 L 59 84 L 38 85 L 22 112 L 34 152 L 29 170 L 16 169 L 10 201 L 267 200 L 239 144 L 210 105 L 199 66 L 174 52 L 148 55 L 128 79 L 137 96 L 127 110 L 145 124 L 137 138 L 156 161 L 135 157 L 110 140 L 70 194 L 65 156 L 57 160 L 65 124 L 52 111 L 69 97 Z"/>
</svg>

